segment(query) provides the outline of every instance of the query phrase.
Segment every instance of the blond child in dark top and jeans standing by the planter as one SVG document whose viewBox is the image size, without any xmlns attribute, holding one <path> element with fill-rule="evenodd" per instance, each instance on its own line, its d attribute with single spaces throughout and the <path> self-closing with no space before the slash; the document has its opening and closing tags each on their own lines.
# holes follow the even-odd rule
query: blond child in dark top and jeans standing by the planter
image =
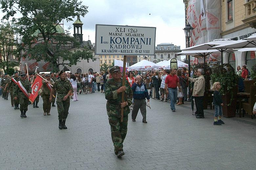
<svg viewBox="0 0 256 170">
<path fill-rule="evenodd" d="M 215 82 L 213 84 L 213 87 L 212 87 L 212 90 L 214 90 L 214 92 L 213 92 L 213 105 L 214 105 L 214 108 L 215 108 L 213 125 L 225 124 L 221 120 L 223 102 L 222 102 L 221 94 L 219 92 L 220 89 L 221 89 L 221 83 L 220 82 Z"/>
</svg>

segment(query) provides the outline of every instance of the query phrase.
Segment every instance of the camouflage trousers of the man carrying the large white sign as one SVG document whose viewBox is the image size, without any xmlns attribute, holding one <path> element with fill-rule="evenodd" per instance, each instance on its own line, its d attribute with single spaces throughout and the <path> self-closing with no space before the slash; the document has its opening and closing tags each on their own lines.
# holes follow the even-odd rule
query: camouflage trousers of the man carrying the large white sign
<svg viewBox="0 0 256 170">
<path fill-rule="evenodd" d="M 123 150 L 123 141 L 127 133 L 128 125 L 128 115 L 123 117 L 123 122 L 121 118 L 109 116 L 109 124 L 111 127 L 111 138 L 115 147 L 115 154 L 117 155 L 118 151 Z"/>
</svg>

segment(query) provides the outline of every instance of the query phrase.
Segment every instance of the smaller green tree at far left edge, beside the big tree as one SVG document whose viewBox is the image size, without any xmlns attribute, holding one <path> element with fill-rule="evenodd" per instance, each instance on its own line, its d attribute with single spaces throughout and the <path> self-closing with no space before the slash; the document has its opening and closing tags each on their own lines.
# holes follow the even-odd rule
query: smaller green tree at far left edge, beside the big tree
<svg viewBox="0 0 256 170">
<path fill-rule="evenodd" d="M 0 59 L 0 68 L 5 73 L 13 74 L 11 67 L 18 66 L 19 62 L 11 61 L 11 57 L 15 56 L 17 45 L 14 36 L 16 34 L 15 26 L 10 23 L 0 24 L 0 51 L 2 59 Z M 9 69 L 10 68 L 10 69 Z"/>
</svg>

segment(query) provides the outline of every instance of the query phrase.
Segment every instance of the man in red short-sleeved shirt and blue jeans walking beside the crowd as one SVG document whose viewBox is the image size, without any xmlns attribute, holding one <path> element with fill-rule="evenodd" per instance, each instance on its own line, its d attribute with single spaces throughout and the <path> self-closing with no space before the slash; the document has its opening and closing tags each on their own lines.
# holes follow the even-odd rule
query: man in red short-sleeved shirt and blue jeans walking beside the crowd
<svg viewBox="0 0 256 170">
<path fill-rule="evenodd" d="M 177 99 L 177 86 L 179 87 L 179 92 L 181 92 L 179 78 L 174 74 L 174 69 L 170 69 L 169 75 L 165 78 L 165 90 L 166 93 L 170 95 L 171 99 L 171 110 L 175 112 L 175 102 Z"/>
</svg>

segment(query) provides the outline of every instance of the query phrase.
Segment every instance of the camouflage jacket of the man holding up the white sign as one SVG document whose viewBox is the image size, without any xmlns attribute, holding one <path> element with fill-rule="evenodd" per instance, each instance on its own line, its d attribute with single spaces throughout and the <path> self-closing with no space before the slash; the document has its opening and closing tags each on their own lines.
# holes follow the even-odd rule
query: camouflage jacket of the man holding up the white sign
<svg viewBox="0 0 256 170">
<path fill-rule="evenodd" d="M 122 81 L 122 78 L 121 78 Z M 122 82 L 116 82 L 113 78 L 110 78 L 105 85 L 105 98 L 107 101 L 107 114 L 108 116 L 121 117 L 121 98 L 122 93 L 117 94 L 117 89 L 119 89 L 122 85 Z M 126 116 L 130 113 L 129 106 L 132 104 L 133 91 L 128 81 L 125 80 L 125 95 L 124 101 L 128 102 L 128 106 L 124 107 L 123 115 Z"/>
</svg>

